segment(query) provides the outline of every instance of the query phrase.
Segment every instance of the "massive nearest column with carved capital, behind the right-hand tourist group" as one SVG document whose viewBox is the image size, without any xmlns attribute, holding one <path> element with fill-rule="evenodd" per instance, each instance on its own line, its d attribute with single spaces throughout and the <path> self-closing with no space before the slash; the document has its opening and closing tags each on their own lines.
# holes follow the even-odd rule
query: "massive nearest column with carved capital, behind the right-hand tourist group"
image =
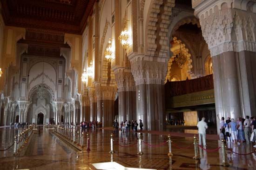
<svg viewBox="0 0 256 170">
<path fill-rule="evenodd" d="M 256 10 L 248 2 L 192 1 L 213 60 L 220 117 L 245 118 L 256 112 Z"/>
</svg>

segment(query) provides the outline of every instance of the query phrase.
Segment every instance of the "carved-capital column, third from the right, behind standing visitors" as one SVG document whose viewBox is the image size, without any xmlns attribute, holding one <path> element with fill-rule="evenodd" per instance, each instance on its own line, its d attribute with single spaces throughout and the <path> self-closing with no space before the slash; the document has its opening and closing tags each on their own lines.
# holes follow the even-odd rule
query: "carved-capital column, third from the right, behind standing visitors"
<svg viewBox="0 0 256 170">
<path fill-rule="evenodd" d="M 135 81 L 130 69 L 115 70 L 118 88 L 118 122 L 137 120 Z"/>
</svg>

